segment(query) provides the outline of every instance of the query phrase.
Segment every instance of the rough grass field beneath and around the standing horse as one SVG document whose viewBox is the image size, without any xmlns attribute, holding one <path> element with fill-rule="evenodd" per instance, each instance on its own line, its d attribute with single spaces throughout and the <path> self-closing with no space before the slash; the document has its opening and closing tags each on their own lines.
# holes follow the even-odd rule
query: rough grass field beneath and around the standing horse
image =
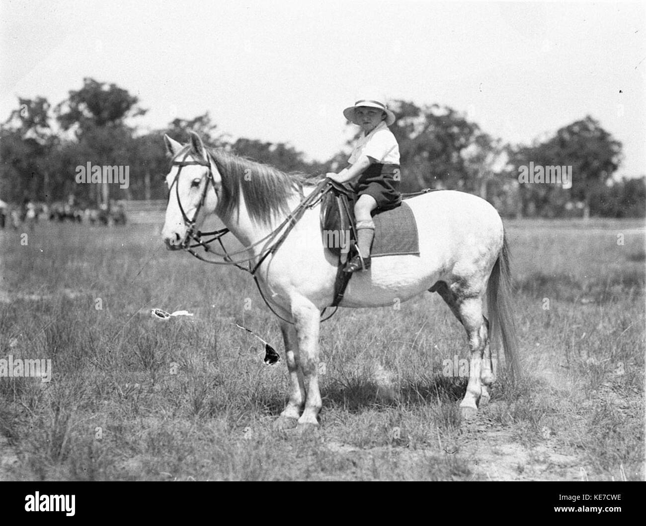
<svg viewBox="0 0 646 526">
<path fill-rule="evenodd" d="M 252 279 L 166 252 L 160 227 L 0 232 L 0 359 L 52 360 L 49 382 L 0 377 L 0 480 L 644 480 L 643 221 L 506 223 L 526 374 L 499 367 L 474 421 L 439 296 L 340 309 L 304 436 L 272 425 L 287 370 Z"/>
</svg>

